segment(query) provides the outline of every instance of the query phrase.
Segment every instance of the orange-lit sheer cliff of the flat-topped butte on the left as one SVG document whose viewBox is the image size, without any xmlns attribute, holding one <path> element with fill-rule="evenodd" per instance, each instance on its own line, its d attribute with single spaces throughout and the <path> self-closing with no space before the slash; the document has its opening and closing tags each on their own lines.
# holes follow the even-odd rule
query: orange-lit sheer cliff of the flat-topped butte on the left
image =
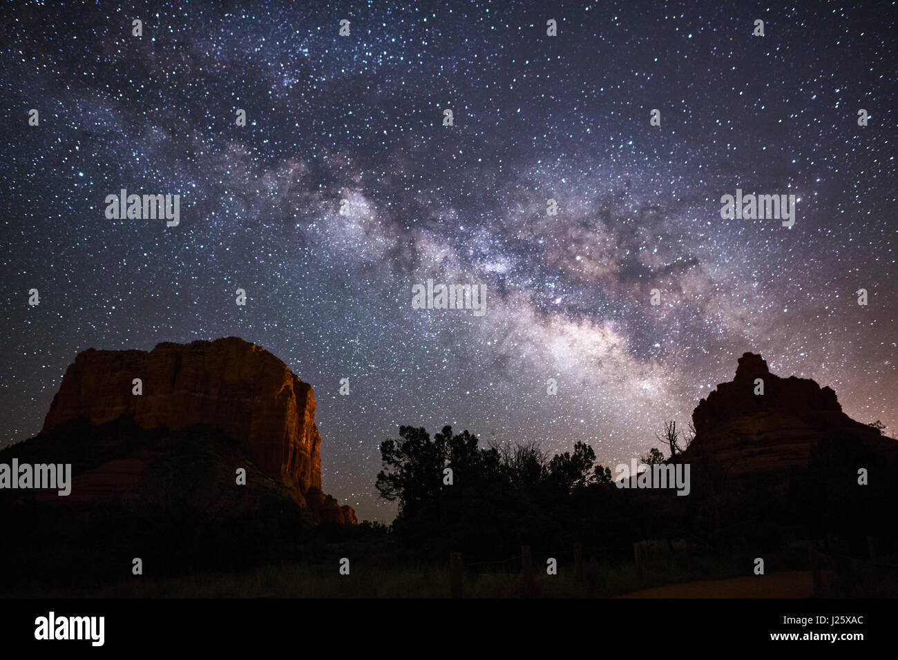
<svg viewBox="0 0 898 660">
<path fill-rule="evenodd" d="M 135 379 L 141 380 L 140 395 L 134 393 Z M 310 490 L 321 492 L 321 434 L 312 386 L 255 344 L 230 337 L 165 342 L 149 353 L 86 350 L 66 370 L 43 431 L 70 419 L 99 425 L 124 415 L 147 429 L 214 427 L 237 440 L 302 504 Z M 339 516 L 333 506 L 321 510 L 335 522 L 356 522 L 350 507 L 337 508 Z"/>
</svg>

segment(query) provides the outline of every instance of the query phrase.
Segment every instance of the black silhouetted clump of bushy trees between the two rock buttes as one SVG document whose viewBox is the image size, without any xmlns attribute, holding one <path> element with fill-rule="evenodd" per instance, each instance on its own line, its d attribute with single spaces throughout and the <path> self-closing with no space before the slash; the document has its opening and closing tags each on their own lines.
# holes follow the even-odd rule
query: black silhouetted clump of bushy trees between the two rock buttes
<svg viewBox="0 0 898 660">
<path fill-rule="evenodd" d="M 626 549 L 631 542 L 628 515 L 612 506 L 620 497 L 609 488 L 612 471 L 594 464 L 589 444 L 549 458 L 533 440 L 480 447 L 477 436 L 453 434 L 452 427 L 433 438 L 424 428 L 400 427 L 400 438 L 383 442 L 381 454 L 376 488 L 400 506 L 392 531 L 420 556 L 461 551 L 466 559 L 494 560 L 522 544 Z M 452 485 L 445 483 L 447 467 Z"/>
</svg>

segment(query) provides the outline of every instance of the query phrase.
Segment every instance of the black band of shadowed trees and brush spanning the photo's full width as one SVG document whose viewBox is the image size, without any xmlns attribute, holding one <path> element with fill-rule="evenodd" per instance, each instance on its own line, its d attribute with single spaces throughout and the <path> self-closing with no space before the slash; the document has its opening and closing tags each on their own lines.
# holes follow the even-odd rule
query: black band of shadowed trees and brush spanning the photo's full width
<svg viewBox="0 0 898 660">
<path fill-rule="evenodd" d="M 642 462 L 676 462 L 689 440 L 672 424 L 659 439 L 674 455 L 665 459 L 655 448 Z M 481 446 L 476 436 L 451 427 L 434 436 L 401 427 L 398 439 L 381 444 L 383 470 L 375 482 L 384 498 L 398 503 L 399 515 L 390 527 L 344 526 L 319 524 L 283 485 L 256 470 L 238 444 L 210 427 L 172 432 L 145 430 L 131 418 L 100 427 L 78 420 L 5 449 L 0 462 L 13 456 L 71 462 L 75 475 L 112 459 L 148 460 L 151 467 L 136 483 L 137 497 L 104 505 L 0 491 L 0 565 L 14 567 L 4 573 L 3 593 L 96 593 L 131 579 L 136 557 L 145 572 L 136 579 L 144 585 L 184 576 L 269 575 L 266 567 L 287 565 L 302 567 L 301 579 L 309 583 L 316 571 L 336 575 L 343 557 L 352 559 L 354 574 L 368 576 L 443 571 L 450 552 L 462 552 L 466 570 L 479 575 L 516 571 L 522 545 L 533 548 L 537 572 L 544 572 L 548 556 L 568 567 L 571 548 L 580 543 L 592 567 L 587 579 L 596 575 L 590 588 L 603 594 L 613 592 L 614 567 L 632 565 L 635 541 L 658 540 L 672 553 L 689 549 L 666 560 L 671 579 L 732 572 L 742 566 L 739 558 L 765 552 L 788 558 L 779 568 L 805 569 L 806 555 L 796 547 L 806 541 L 841 539 L 846 554 L 862 555 L 867 536 L 874 536 L 885 555 L 894 553 L 896 466 L 852 440 L 819 444 L 807 470 L 785 477 L 738 479 L 706 460 L 692 466 L 691 494 L 678 497 L 674 489 L 617 488 L 612 469 L 597 464 L 587 444 L 548 456 L 533 441 Z M 867 487 L 856 485 L 858 465 L 869 466 Z M 247 486 L 234 487 L 235 466 L 246 467 Z M 699 557 L 706 558 L 704 573 Z M 736 559 L 708 559 L 714 557 Z M 271 581 L 277 589 L 277 578 Z M 337 595 L 343 587 L 321 588 Z M 371 588 L 382 594 L 384 587 Z"/>
</svg>

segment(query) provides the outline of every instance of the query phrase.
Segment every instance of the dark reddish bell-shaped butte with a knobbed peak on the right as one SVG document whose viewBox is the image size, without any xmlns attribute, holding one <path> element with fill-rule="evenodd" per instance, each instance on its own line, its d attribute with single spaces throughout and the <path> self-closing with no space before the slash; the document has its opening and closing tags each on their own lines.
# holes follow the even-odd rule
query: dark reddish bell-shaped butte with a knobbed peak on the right
<svg viewBox="0 0 898 660">
<path fill-rule="evenodd" d="M 756 380 L 763 394 L 755 394 Z M 898 443 L 842 412 L 836 393 L 813 380 L 770 374 L 761 356 L 739 358 L 735 379 L 718 384 L 692 412 L 695 439 L 681 461 L 711 457 L 733 475 L 806 467 L 823 439 L 852 436 L 894 456 Z"/>
</svg>

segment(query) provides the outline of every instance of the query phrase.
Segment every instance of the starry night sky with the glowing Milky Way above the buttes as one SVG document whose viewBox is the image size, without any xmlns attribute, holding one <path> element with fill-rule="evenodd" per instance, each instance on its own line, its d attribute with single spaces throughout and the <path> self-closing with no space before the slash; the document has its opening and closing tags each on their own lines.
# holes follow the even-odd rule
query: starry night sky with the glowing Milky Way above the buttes
<svg viewBox="0 0 898 660">
<path fill-rule="evenodd" d="M 81 350 L 227 336 L 312 383 L 367 519 L 399 425 L 629 462 L 744 351 L 898 430 L 894 2 L 409 4 L 4 4 L 0 442 Z M 428 278 L 487 313 L 412 309 Z"/>
</svg>

